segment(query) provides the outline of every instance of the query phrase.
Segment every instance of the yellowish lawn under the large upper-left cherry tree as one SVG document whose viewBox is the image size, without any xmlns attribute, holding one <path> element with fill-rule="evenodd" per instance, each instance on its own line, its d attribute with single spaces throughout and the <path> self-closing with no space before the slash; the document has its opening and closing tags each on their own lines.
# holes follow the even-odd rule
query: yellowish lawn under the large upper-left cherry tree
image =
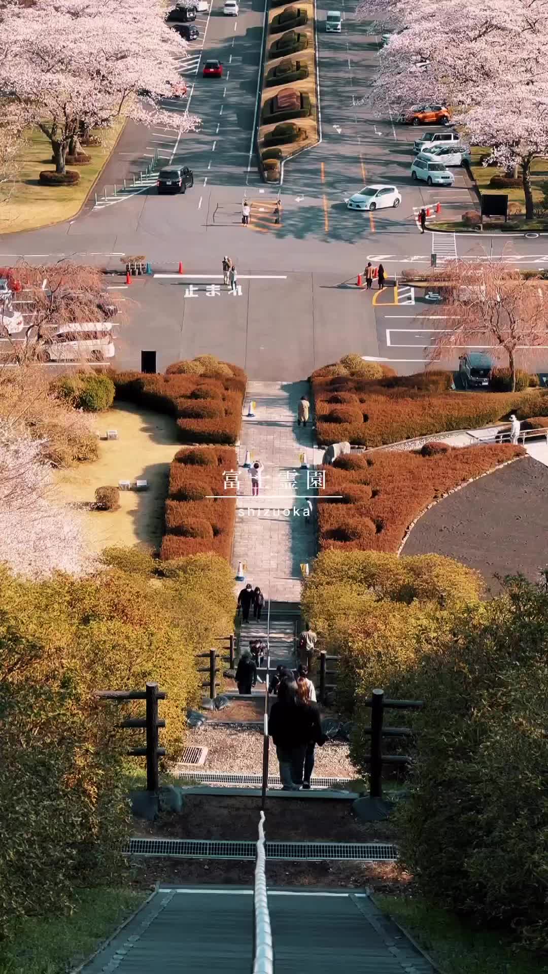
<svg viewBox="0 0 548 974">
<path fill-rule="evenodd" d="M 87 166 L 69 166 L 80 173 L 77 186 L 42 186 L 39 173 L 42 169 L 55 169 L 52 147 L 46 136 L 33 129 L 26 136 L 26 143 L 20 152 L 20 169 L 13 191 L 8 201 L 1 207 L 0 234 L 11 234 L 19 230 L 35 230 L 37 227 L 60 223 L 74 216 L 84 203 L 98 174 L 108 161 L 113 146 L 124 126 L 123 119 L 117 119 L 111 129 L 107 129 L 103 145 L 90 145 L 84 148 L 92 161 Z M 102 131 L 101 131 L 102 134 Z"/>
</svg>

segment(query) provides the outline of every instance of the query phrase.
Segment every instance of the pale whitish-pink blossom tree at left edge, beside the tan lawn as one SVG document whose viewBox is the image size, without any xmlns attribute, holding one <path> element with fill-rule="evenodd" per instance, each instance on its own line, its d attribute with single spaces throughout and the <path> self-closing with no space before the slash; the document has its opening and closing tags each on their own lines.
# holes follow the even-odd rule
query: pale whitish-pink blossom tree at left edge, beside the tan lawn
<svg viewBox="0 0 548 974">
<path fill-rule="evenodd" d="M 80 519 L 55 503 L 44 443 L 0 421 L 0 562 L 15 575 L 43 579 L 55 572 L 86 575 L 97 565 Z"/>
</svg>

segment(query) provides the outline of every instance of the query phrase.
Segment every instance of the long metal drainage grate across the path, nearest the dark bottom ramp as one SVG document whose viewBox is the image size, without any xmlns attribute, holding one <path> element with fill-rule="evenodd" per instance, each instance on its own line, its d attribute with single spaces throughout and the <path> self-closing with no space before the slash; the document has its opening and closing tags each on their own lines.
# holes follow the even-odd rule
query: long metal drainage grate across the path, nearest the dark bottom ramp
<svg viewBox="0 0 548 974">
<path fill-rule="evenodd" d="M 169 856 L 183 859 L 254 859 L 256 843 L 224 839 L 130 839 L 126 855 Z M 266 843 L 267 859 L 346 859 L 360 862 L 394 862 L 395 845 L 383 843 Z"/>
</svg>

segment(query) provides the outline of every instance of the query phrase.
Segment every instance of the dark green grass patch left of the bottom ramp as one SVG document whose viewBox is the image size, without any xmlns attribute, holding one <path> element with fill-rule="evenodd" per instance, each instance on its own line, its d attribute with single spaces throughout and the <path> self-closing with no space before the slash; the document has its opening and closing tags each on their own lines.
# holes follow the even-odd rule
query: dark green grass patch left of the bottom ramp
<svg viewBox="0 0 548 974">
<path fill-rule="evenodd" d="M 0 974 L 65 974 L 93 954 L 146 895 L 121 887 L 81 889 L 71 916 L 18 921 L 13 940 L 0 945 Z"/>
</svg>

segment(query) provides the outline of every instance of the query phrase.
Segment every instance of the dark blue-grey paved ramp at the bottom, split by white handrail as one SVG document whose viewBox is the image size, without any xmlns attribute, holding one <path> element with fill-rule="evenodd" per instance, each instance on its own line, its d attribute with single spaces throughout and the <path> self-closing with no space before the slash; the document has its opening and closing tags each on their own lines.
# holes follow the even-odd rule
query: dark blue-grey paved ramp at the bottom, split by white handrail
<svg viewBox="0 0 548 974">
<path fill-rule="evenodd" d="M 435 974 L 359 890 L 269 889 L 276 974 Z M 160 888 L 83 974 L 252 969 L 254 898 L 246 886 Z"/>
</svg>

